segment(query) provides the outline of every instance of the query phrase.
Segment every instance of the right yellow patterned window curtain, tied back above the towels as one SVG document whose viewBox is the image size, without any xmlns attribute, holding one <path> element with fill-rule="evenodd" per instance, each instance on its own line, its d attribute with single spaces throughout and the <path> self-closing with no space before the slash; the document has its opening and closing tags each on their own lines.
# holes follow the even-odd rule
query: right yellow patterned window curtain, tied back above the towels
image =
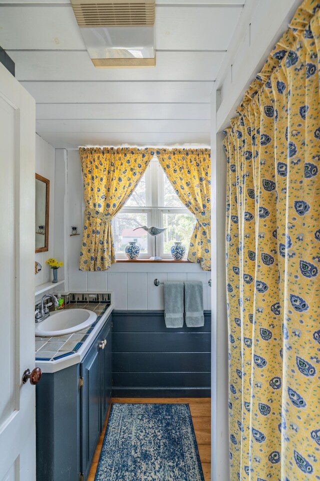
<svg viewBox="0 0 320 481">
<path fill-rule="evenodd" d="M 156 156 L 179 199 L 196 218 L 187 259 L 210 271 L 210 149 L 161 149 Z"/>
</svg>

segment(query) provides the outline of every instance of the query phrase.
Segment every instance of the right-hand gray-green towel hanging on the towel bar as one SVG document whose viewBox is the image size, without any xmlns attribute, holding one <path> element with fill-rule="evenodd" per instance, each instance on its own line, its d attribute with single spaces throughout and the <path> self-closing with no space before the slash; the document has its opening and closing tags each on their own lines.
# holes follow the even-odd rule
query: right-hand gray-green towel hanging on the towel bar
<svg viewBox="0 0 320 481">
<path fill-rule="evenodd" d="M 202 282 L 185 282 L 184 298 L 185 324 L 187 327 L 204 326 Z"/>
</svg>

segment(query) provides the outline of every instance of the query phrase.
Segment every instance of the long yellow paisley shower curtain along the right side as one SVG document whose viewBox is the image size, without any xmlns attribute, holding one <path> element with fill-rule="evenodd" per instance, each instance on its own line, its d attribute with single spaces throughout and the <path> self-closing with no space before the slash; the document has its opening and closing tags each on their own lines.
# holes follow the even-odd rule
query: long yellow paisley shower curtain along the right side
<svg viewBox="0 0 320 481">
<path fill-rule="evenodd" d="M 231 481 L 320 475 L 320 3 L 226 131 Z"/>
</svg>

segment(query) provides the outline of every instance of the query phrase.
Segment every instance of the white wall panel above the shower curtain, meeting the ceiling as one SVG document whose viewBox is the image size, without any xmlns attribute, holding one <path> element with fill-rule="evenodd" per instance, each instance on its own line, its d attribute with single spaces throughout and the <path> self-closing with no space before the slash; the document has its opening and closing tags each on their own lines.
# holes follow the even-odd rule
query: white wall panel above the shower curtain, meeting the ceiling
<svg viewBox="0 0 320 481">
<path fill-rule="evenodd" d="M 216 77 L 220 90 L 217 131 L 229 125 L 235 108 L 288 27 L 301 0 L 246 0 L 236 32 Z"/>
</svg>

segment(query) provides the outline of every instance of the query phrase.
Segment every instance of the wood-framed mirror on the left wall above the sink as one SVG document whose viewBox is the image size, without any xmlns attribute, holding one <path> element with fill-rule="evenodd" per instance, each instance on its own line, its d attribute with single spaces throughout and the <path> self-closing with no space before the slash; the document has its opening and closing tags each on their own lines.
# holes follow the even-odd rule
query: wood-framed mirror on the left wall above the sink
<svg viewBox="0 0 320 481">
<path fill-rule="evenodd" d="M 48 250 L 50 181 L 35 174 L 35 252 Z"/>
</svg>

